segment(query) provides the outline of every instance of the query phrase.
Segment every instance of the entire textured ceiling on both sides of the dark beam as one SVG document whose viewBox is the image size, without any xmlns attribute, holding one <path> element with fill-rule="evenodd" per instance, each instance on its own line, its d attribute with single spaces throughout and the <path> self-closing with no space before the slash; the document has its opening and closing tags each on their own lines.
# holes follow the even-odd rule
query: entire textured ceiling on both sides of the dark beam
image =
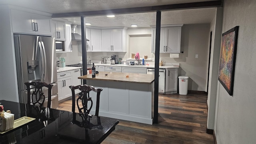
<svg viewBox="0 0 256 144">
<path fill-rule="evenodd" d="M 211 0 L 0 0 L 0 4 L 12 4 L 56 14 L 206 1 Z M 162 11 L 161 24 L 210 23 L 214 18 L 215 10 L 216 8 L 200 8 Z M 80 17 L 63 19 L 80 25 Z M 86 22 L 98 27 L 126 26 L 130 28 L 131 24 L 149 27 L 156 25 L 156 12 L 119 14 L 114 18 L 89 16 L 86 17 Z"/>
</svg>

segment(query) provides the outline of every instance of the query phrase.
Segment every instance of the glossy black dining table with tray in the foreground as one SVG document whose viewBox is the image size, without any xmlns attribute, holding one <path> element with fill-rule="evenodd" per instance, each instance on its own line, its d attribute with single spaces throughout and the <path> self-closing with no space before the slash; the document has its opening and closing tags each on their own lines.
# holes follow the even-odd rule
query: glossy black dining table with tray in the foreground
<svg viewBox="0 0 256 144">
<path fill-rule="evenodd" d="M 14 114 L 14 128 L 0 132 L 0 144 L 100 144 L 119 123 L 90 116 L 86 125 L 72 123 L 72 112 L 0 100 Z M 76 120 L 83 121 L 76 113 Z"/>
</svg>

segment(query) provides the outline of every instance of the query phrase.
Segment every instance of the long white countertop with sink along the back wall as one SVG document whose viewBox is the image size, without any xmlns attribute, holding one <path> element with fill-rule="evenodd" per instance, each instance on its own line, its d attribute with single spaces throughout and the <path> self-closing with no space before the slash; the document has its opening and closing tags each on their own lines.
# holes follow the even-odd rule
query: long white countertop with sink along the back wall
<svg viewBox="0 0 256 144">
<path fill-rule="evenodd" d="M 110 66 L 110 64 L 97 64 L 94 63 L 95 66 Z M 128 65 L 128 64 L 111 64 L 112 66 L 122 66 L 122 67 L 134 67 L 134 68 L 155 68 L 154 65 Z M 159 66 L 160 69 L 165 69 L 165 68 L 179 68 L 179 66 Z"/>
</svg>

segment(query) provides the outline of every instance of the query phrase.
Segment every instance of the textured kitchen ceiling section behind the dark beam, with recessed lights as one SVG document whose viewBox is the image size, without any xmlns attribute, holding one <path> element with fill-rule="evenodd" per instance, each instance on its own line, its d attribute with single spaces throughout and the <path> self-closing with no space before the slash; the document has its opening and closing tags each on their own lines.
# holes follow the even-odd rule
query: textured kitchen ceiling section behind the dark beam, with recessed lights
<svg viewBox="0 0 256 144">
<path fill-rule="evenodd" d="M 161 25 L 166 24 L 201 24 L 210 23 L 215 16 L 216 8 L 201 8 L 191 10 L 172 10 L 161 12 Z M 62 18 L 80 25 L 80 17 Z M 106 16 L 88 16 L 85 22 L 91 23 L 91 26 L 112 27 L 137 24 L 138 27 L 150 27 L 156 25 L 156 12 L 120 14 L 114 18 Z"/>
</svg>

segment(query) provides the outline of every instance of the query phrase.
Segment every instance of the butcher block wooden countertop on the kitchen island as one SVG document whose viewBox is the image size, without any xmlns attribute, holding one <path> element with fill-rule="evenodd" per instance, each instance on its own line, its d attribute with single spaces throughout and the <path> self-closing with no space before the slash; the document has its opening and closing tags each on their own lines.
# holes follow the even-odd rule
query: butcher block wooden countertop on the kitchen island
<svg viewBox="0 0 256 144">
<path fill-rule="evenodd" d="M 107 74 L 107 75 L 105 75 Z M 126 78 L 126 76 L 128 76 Z M 95 78 L 92 78 L 92 74 L 87 74 L 78 77 L 85 80 L 103 80 L 110 82 L 129 82 L 139 84 L 151 84 L 154 82 L 154 74 L 135 74 L 135 73 L 121 73 L 121 72 L 99 72 Z"/>
</svg>

